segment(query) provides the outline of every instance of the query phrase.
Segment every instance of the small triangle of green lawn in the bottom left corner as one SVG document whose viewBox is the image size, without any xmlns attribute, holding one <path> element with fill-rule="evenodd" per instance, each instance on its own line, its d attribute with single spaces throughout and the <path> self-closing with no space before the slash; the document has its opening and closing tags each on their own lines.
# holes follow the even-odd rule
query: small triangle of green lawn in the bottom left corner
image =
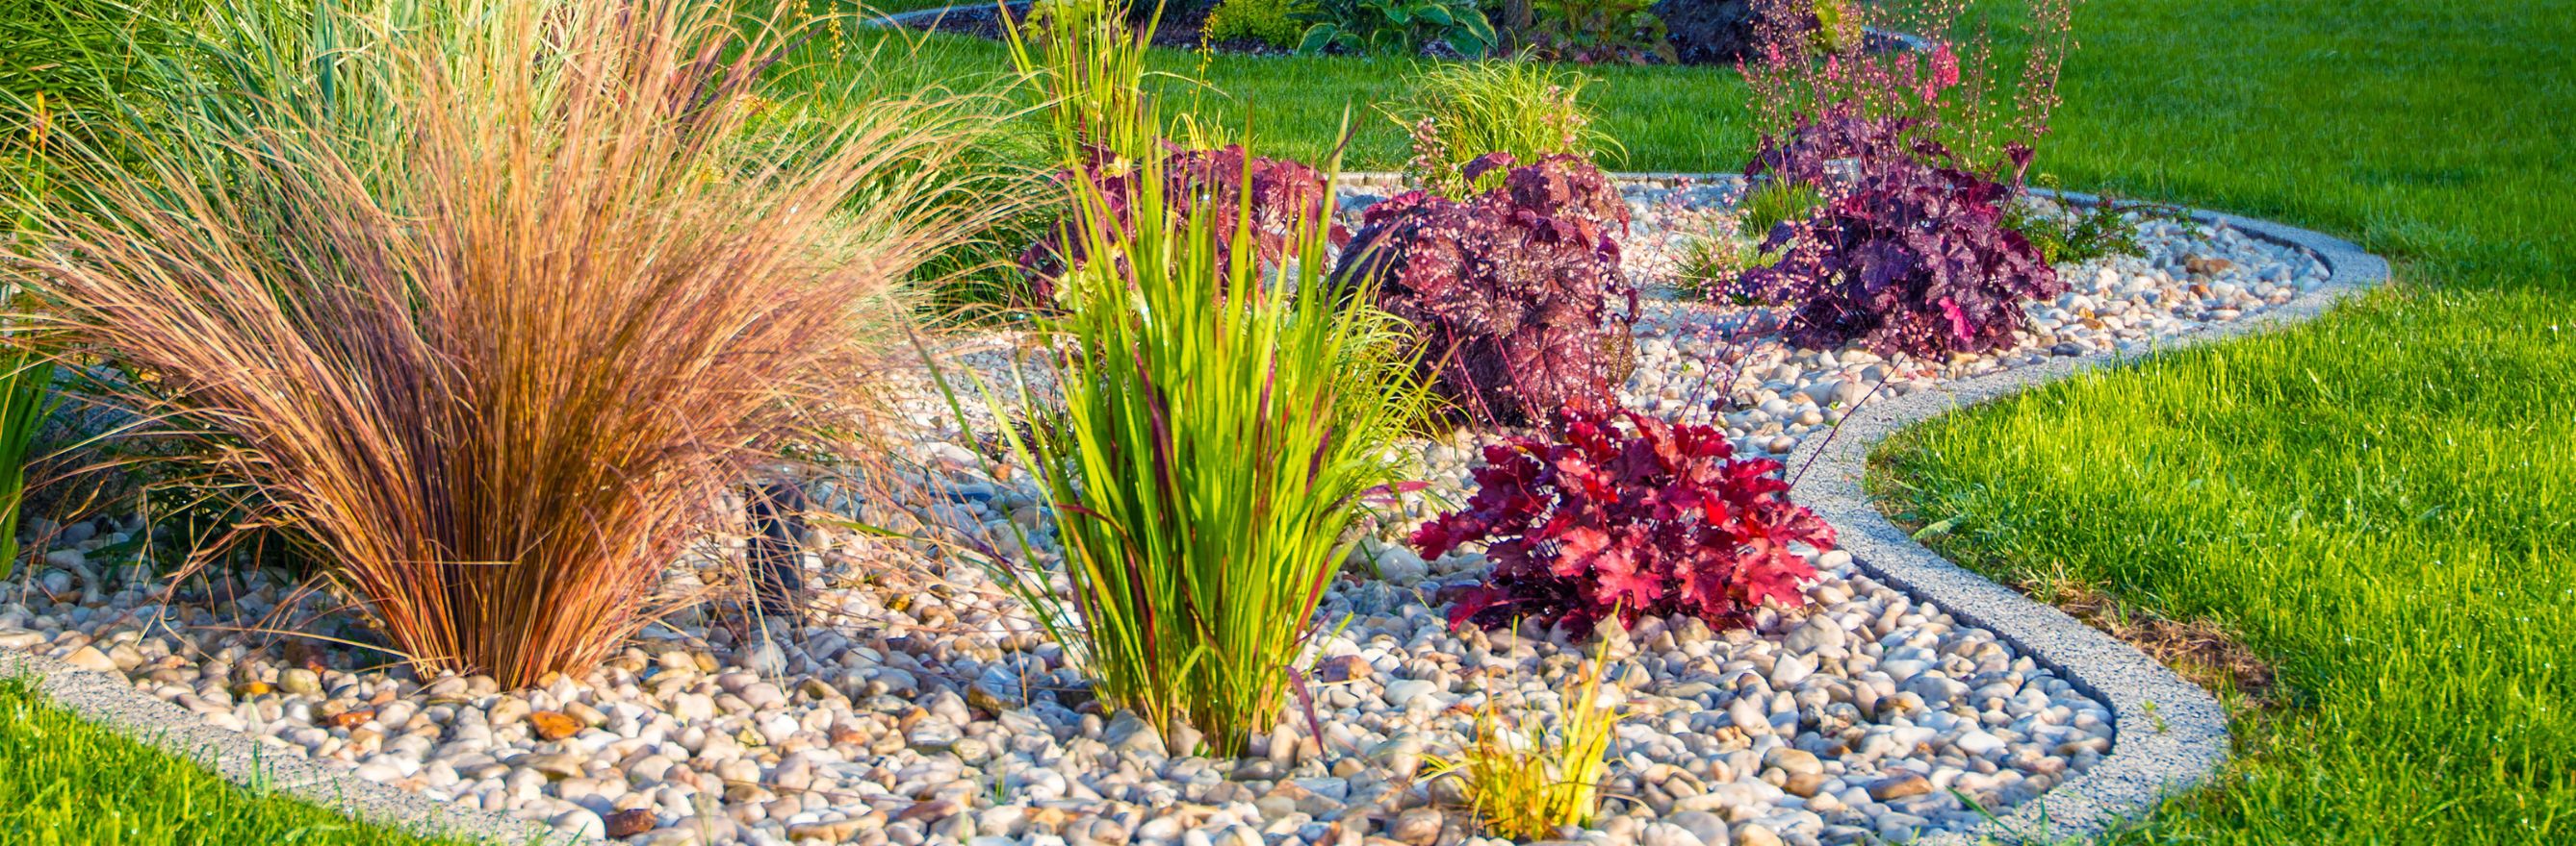
<svg viewBox="0 0 2576 846">
<path fill-rule="evenodd" d="M 0 679 L 0 843 L 335 846 L 422 841 L 206 769 L 82 723 L 26 679 Z"/>
</svg>

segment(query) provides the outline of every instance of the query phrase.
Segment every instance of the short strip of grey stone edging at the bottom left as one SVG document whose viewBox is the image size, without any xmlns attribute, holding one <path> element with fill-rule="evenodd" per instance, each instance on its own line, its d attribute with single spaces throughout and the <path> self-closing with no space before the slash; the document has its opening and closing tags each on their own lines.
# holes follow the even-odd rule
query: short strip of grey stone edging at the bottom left
<svg viewBox="0 0 2576 846">
<path fill-rule="evenodd" d="M 484 843 L 572 843 L 544 823 L 497 813 L 459 810 L 410 789 L 376 784 L 309 759 L 260 746 L 260 738 L 206 725 L 116 674 L 88 671 L 59 658 L 0 648 L 0 679 L 26 676 L 54 705 L 144 746 L 191 759 L 216 777 L 250 789 L 273 789 L 337 810 L 353 820 L 428 838 Z"/>
</svg>

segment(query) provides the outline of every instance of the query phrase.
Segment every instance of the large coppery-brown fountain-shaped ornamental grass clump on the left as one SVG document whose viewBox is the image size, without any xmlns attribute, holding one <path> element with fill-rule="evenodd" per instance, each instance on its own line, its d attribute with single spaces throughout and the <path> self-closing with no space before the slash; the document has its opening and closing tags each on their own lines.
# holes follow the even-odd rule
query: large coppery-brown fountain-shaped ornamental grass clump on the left
<svg viewBox="0 0 2576 846">
<path fill-rule="evenodd" d="M 752 131 L 796 26 L 726 3 L 222 21 L 8 267 L 422 671 L 536 684 L 685 599 L 665 568 L 866 399 L 896 280 L 981 213 L 938 103 Z"/>
</svg>

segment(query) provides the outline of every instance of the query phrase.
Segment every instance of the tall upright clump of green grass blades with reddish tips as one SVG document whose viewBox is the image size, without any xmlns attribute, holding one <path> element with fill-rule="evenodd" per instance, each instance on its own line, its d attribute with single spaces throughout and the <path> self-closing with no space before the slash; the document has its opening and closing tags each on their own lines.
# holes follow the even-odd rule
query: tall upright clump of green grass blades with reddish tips
<svg viewBox="0 0 2576 846">
<path fill-rule="evenodd" d="M 1188 203 L 1162 193 L 1164 126 L 1136 87 L 1144 41 L 1079 23 L 1118 21 L 1115 8 L 1054 21 L 1077 23 L 1012 49 L 1056 103 L 1066 162 L 1084 154 L 1074 144 L 1105 144 L 1136 180 L 1121 216 L 1110 188 L 1069 177 L 1090 260 L 1064 275 L 1064 311 L 1038 321 L 1041 373 L 1018 381 L 1041 435 L 999 432 L 1046 489 L 1061 573 L 1005 555 L 994 568 L 1103 702 L 1239 751 L 1280 717 L 1324 586 L 1368 501 L 1396 483 L 1391 445 L 1430 393 L 1399 352 L 1401 321 L 1365 291 L 1327 288 L 1329 211 L 1301 221 L 1283 267 L 1244 255 L 1249 231 L 1218 237 L 1213 211 L 1175 213 Z M 999 391 L 981 396 L 1010 417 Z"/>
</svg>

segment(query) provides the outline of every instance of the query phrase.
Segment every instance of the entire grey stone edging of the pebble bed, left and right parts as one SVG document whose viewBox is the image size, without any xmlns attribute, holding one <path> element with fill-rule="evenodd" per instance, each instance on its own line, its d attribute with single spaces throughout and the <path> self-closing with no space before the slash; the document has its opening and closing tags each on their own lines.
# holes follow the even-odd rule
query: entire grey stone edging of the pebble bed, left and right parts
<svg viewBox="0 0 2576 846">
<path fill-rule="evenodd" d="M 1638 172 L 1615 177 L 1672 185 L 1731 175 Z M 1401 185 L 1401 175 L 1345 172 L 1342 183 L 1391 188 Z M 2079 203 L 2094 201 L 2084 193 L 2058 195 Z M 2388 280 L 2385 260 L 2336 237 L 2215 211 L 2192 211 L 2192 216 L 2311 249 L 2326 262 L 2329 278 L 2318 291 L 2241 321 L 2182 337 L 2182 345 L 2303 321 L 2324 314 L 2326 306 L 2344 296 Z M 1935 555 L 1891 525 L 1868 491 L 1862 491 L 1870 450 L 1896 429 L 2112 363 L 2115 352 L 2097 352 L 1937 383 L 1927 391 L 1862 406 L 1844 419 L 1842 432 L 1834 437 L 1811 437 L 1788 458 L 1790 468 L 1806 468 L 1790 496 L 1834 525 L 1842 548 L 1852 553 L 1860 568 L 1914 599 L 1937 604 L 1968 625 L 1996 633 L 2022 653 L 2071 679 L 2087 694 L 2112 705 L 2117 733 L 2112 753 L 2102 764 L 1973 831 L 1942 833 L 1922 843 L 1965 846 L 2097 833 L 2166 792 L 2197 784 L 2218 764 L 2226 764 L 2226 712 L 2205 689 L 2184 681 L 2128 643 Z M 1808 465 L 1811 460 L 1814 465 Z M 193 759 L 227 782 L 278 789 L 366 823 L 492 843 L 574 841 L 541 823 L 482 810 L 456 810 L 446 802 L 358 779 L 309 759 L 273 756 L 255 735 L 206 725 L 178 705 L 162 702 L 111 674 L 0 648 L 0 676 L 33 676 L 36 689 L 80 717 Z"/>
</svg>

